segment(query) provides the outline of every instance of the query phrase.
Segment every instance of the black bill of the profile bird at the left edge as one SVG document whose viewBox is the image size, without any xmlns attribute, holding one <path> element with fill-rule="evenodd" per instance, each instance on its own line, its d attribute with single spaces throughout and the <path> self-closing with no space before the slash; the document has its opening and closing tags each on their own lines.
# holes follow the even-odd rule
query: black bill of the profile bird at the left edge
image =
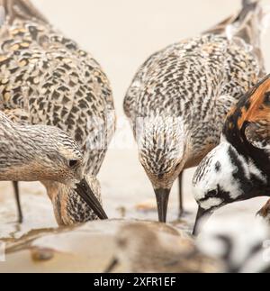
<svg viewBox="0 0 270 291">
<path fill-rule="evenodd" d="M 94 193 L 85 178 L 76 185 L 76 193 L 82 197 L 85 203 L 94 211 L 94 214 L 99 219 L 108 219 L 107 214 L 103 210 L 103 206 L 100 204 L 96 196 L 94 196 Z"/>
</svg>

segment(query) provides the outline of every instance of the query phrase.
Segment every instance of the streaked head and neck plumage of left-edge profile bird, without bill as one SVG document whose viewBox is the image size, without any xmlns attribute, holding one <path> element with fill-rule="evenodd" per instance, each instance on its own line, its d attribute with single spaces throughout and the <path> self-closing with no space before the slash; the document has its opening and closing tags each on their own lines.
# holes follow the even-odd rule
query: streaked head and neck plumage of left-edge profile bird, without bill
<svg viewBox="0 0 270 291">
<path fill-rule="evenodd" d="M 0 137 L 0 180 L 10 177 L 14 181 L 21 178 L 31 181 L 35 180 L 33 177 L 42 176 L 44 180 L 49 180 L 49 177 L 55 179 L 58 173 L 59 180 L 68 181 L 72 177 L 65 172 L 60 175 L 55 167 L 57 163 L 61 161 L 62 166 L 66 163 L 68 167 L 69 160 L 83 162 L 82 152 L 76 142 L 54 126 L 15 124 L 0 112 Z M 48 167 L 49 171 L 39 167 L 47 162 L 51 166 Z"/>
</svg>

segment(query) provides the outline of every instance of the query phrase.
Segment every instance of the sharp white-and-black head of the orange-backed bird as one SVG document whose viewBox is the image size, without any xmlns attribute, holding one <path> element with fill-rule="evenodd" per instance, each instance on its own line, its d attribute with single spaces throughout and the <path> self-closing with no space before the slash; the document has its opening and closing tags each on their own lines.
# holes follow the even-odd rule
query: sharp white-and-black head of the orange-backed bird
<svg viewBox="0 0 270 291">
<path fill-rule="evenodd" d="M 193 196 L 199 205 L 194 231 L 202 216 L 224 205 L 246 200 L 249 177 L 246 160 L 228 142 L 223 141 L 212 150 L 193 177 Z"/>
</svg>

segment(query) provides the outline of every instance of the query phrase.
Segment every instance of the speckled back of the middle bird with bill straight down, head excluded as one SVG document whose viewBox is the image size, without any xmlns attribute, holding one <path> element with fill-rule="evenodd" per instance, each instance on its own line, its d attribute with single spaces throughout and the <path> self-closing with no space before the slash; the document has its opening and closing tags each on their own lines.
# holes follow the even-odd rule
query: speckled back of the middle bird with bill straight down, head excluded
<svg viewBox="0 0 270 291">
<path fill-rule="evenodd" d="M 252 42 L 259 42 L 259 33 L 256 39 L 241 37 L 247 28 L 255 30 L 251 20 L 258 17 L 256 5 L 245 5 L 222 29 L 219 24 L 218 31 L 180 41 L 152 55 L 139 68 L 125 97 L 124 110 L 132 125 L 138 117 L 180 116 L 184 134 L 191 139 L 191 156 L 200 152 L 203 158 L 219 143 L 231 106 L 264 72 L 261 52 Z M 231 39 L 226 34 L 229 25 L 235 29 Z"/>
</svg>

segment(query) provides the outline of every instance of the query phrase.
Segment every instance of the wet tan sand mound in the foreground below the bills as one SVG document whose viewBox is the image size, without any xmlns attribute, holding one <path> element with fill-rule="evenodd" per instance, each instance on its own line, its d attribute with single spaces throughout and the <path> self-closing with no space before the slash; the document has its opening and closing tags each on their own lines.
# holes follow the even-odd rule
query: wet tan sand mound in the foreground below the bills
<svg viewBox="0 0 270 291">
<path fill-rule="evenodd" d="M 0 272 L 103 272 L 115 255 L 115 233 L 134 222 L 112 220 L 29 232 L 20 240 L 6 241 L 6 262 L 0 263 Z M 139 223 L 179 239 L 185 237 L 172 226 Z M 120 265 L 113 272 L 124 272 L 126 268 Z"/>
</svg>

